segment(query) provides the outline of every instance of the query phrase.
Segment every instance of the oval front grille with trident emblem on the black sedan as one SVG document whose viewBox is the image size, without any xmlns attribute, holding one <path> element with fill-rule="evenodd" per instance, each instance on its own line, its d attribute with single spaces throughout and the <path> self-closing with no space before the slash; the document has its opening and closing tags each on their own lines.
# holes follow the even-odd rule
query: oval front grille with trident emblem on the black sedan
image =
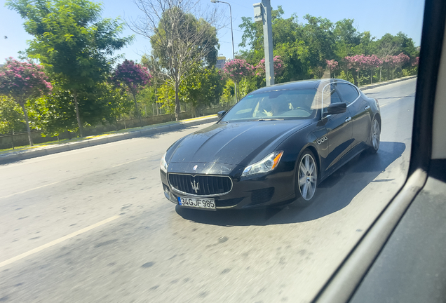
<svg viewBox="0 0 446 303">
<path fill-rule="evenodd" d="M 170 185 L 186 194 L 211 196 L 227 194 L 232 189 L 232 181 L 227 176 L 169 174 Z"/>
</svg>

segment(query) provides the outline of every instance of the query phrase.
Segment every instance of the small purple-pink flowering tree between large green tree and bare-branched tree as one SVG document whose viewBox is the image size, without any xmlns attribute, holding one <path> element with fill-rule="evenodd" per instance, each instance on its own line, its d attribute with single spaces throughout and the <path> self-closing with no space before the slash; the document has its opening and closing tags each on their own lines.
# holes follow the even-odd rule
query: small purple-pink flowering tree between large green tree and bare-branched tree
<svg viewBox="0 0 446 303">
<path fill-rule="evenodd" d="M 138 119 L 140 119 L 140 123 L 142 123 L 142 121 L 136 95 L 142 88 L 144 88 L 144 86 L 150 84 L 151 78 L 152 76 L 149 74 L 147 67 L 136 64 L 133 60 L 124 60 L 124 62 L 116 67 L 112 75 L 112 81 L 114 81 L 114 83 L 126 89 L 133 95 L 133 102 L 135 102 L 135 109 Z"/>
</svg>

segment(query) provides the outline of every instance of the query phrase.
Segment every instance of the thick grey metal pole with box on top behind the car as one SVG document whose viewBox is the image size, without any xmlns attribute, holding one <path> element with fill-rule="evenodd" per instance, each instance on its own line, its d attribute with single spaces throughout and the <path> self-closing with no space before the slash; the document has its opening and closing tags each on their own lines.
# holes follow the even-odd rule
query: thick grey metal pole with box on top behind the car
<svg viewBox="0 0 446 303">
<path fill-rule="evenodd" d="M 265 50 L 265 77 L 266 86 L 274 84 L 273 60 L 273 27 L 271 25 L 271 0 L 253 4 L 254 21 L 263 24 L 263 43 Z"/>
</svg>

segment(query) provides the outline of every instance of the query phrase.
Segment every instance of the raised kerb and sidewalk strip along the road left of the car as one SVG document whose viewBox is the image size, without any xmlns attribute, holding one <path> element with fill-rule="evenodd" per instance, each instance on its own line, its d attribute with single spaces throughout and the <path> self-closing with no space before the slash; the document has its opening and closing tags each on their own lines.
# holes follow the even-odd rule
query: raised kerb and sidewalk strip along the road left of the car
<svg viewBox="0 0 446 303">
<path fill-rule="evenodd" d="M 190 126 L 196 126 L 211 122 L 217 122 L 216 114 L 182 121 L 166 122 L 151 126 L 143 126 L 140 128 L 120 130 L 113 133 L 90 136 L 77 140 L 74 139 L 70 140 L 69 142 L 60 142 L 47 145 L 40 144 L 34 147 L 26 147 L 24 149 L 18 149 L 11 152 L 0 152 L 0 165 L 25 159 L 32 159 L 39 156 L 46 156 L 49 154 L 67 152 L 70 150 L 81 149 L 84 147 L 92 147 L 95 145 L 105 144 L 109 142 L 126 140 L 134 137 L 142 137 L 144 135 L 153 135 L 156 133 L 163 133 L 172 130 L 180 130 L 182 128 L 188 128 Z"/>
</svg>

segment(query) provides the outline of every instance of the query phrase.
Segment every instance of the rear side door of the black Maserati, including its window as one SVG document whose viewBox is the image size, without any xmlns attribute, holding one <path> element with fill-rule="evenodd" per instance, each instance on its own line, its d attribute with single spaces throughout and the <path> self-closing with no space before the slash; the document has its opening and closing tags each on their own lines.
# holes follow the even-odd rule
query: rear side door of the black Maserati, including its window
<svg viewBox="0 0 446 303">
<path fill-rule="evenodd" d="M 347 103 L 347 108 L 351 114 L 351 123 L 353 126 L 353 142 L 351 147 L 356 147 L 358 144 L 367 142 L 370 137 L 371 127 L 371 109 L 370 105 L 365 100 L 358 89 L 348 83 L 336 83 L 334 85 L 344 102 Z"/>
</svg>

